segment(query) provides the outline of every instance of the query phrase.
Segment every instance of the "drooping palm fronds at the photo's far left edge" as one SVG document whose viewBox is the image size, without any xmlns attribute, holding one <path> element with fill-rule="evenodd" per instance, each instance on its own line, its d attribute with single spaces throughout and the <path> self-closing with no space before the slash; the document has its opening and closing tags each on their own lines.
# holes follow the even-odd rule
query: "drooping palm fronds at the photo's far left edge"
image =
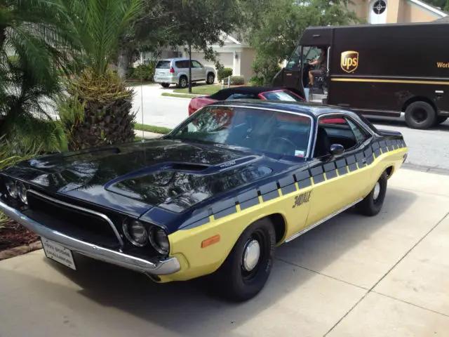
<svg viewBox="0 0 449 337">
<path fill-rule="evenodd" d="M 1 1 L 0 136 L 13 146 L 60 148 L 49 104 L 61 90 L 58 74 L 75 64 L 68 23 L 65 0 Z"/>
</svg>

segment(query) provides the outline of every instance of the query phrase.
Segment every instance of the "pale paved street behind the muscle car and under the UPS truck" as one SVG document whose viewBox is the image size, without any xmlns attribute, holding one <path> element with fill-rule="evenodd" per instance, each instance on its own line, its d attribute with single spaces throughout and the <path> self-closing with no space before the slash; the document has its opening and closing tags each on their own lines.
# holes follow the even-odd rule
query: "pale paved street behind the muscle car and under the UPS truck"
<svg viewBox="0 0 449 337">
<path fill-rule="evenodd" d="M 189 98 L 163 97 L 161 93 L 170 92 L 174 87 L 164 89 L 159 85 L 142 86 L 143 123 L 173 128 L 187 118 Z M 142 122 L 141 87 L 135 87 L 135 110 L 138 121 Z M 407 164 L 441 169 L 449 172 L 449 121 L 427 131 L 408 128 L 404 121 L 373 121 L 377 128 L 396 130 L 403 133 L 410 149 Z"/>
</svg>

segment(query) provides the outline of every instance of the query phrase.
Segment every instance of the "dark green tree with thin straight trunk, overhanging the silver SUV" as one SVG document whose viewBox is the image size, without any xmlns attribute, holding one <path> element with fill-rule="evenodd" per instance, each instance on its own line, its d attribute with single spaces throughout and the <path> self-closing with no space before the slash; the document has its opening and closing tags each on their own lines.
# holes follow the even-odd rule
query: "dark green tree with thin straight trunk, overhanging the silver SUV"
<svg viewBox="0 0 449 337">
<path fill-rule="evenodd" d="M 239 27 L 239 0 L 164 0 L 163 8 L 170 13 L 167 44 L 187 46 L 189 60 L 192 49 L 203 51 L 206 60 L 220 67 L 217 53 L 211 45 L 223 45 L 222 34 Z M 189 62 L 189 93 L 192 93 L 192 69 Z"/>
</svg>

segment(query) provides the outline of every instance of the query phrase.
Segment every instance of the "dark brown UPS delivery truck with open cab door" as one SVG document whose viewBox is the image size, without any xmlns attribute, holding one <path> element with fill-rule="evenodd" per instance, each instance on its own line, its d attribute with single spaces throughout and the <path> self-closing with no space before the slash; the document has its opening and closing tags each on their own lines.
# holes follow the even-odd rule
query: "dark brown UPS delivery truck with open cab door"
<svg viewBox="0 0 449 337">
<path fill-rule="evenodd" d="M 309 27 L 273 86 L 366 117 L 401 117 L 430 128 L 449 117 L 449 24 Z M 321 48 L 326 70 L 309 84 Z M 305 89 L 305 90 L 304 90 Z"/>
</svg>

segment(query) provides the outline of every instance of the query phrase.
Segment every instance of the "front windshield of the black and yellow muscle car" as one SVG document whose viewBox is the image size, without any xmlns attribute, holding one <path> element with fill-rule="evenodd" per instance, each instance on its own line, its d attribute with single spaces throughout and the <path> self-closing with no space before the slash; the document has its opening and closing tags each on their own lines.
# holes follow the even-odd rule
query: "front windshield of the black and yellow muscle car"
<svg viewBox="0 0 449 337">
<path fill-rule="evenodd" d="M 246 107 L 210 106 L 192 115 L 170 138 L 304 157 L 311 118 L 306 115 Z"/>
</svg>

